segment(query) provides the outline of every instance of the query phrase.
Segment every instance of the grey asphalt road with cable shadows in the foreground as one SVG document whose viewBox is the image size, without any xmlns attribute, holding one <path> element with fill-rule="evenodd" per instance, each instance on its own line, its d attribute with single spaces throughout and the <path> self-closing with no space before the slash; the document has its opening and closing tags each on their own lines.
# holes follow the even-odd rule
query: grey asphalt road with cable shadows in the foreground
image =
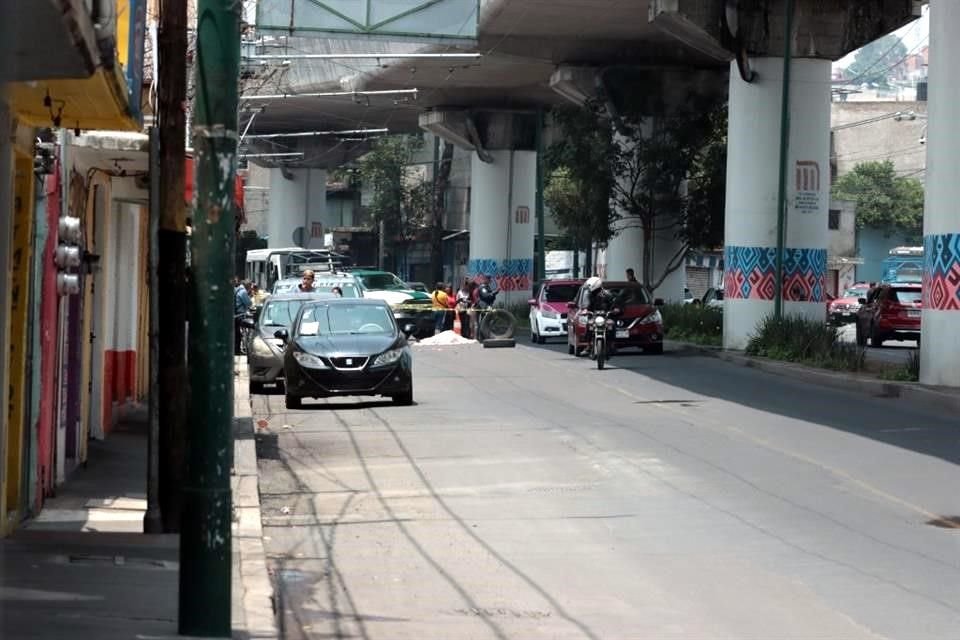
<svg viewBox="0 0 960 640">
<path fill-rule="evenodd" d="M 690 353 L 415 359 L 413 407 L 254 399 L 284 637 L 958 637 L 956 416 Z"/>
</svg>

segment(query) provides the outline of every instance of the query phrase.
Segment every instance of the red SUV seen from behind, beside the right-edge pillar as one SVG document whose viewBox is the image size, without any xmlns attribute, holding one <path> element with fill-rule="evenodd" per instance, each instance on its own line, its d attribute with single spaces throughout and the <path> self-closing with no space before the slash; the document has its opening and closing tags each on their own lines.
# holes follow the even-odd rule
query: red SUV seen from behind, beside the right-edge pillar
<svg viewBox="0 0 960 640">
<path fill-rule="evenodd" d="M 920 343 L 923 292 L 919 284 L 881 284 L 858 300 L 857 344 L 883 346 L 885 340 Z"/>
</svg>

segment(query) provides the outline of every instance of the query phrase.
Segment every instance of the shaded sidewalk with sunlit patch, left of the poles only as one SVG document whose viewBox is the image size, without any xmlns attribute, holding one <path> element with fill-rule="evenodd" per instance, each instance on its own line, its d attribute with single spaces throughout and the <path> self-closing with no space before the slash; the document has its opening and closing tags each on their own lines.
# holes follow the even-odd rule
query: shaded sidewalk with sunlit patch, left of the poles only
<svg viewBox="0 0 960 640">
<path fill-rule="evenodd" d="M 174 637 L 178 538 L 145 536 L 145 416 L 132 416 L 36 519 L 0 540 L 4 640 Z"/>
</svg>

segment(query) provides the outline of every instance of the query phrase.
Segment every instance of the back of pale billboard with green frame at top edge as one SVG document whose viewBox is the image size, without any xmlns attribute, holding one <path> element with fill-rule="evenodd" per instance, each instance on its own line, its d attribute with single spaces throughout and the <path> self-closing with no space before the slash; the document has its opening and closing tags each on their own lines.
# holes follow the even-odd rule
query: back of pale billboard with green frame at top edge
<svg viewBox="0 0 960 640">
<path fill-rule="evenodd" d="M 475 44 L 480 0 L 259 0 L 257 30 Z"/>
</svg>

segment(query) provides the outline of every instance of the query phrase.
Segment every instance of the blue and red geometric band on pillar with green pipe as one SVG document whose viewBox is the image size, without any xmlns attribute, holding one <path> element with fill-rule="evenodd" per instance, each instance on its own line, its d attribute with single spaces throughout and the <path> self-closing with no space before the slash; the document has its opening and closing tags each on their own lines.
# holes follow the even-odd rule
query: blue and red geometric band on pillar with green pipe
<svg viewBox="0 0 960 640">
<path fill-rule="evenodd" d="M 724 297 L 734 300 L 773 300 L 776 294 L 776 247 L 727 245 L 723 257 Z M 824 302 L 827 285 L 826 249 L 783 250 L 783 299 Z"/>
</svg>

